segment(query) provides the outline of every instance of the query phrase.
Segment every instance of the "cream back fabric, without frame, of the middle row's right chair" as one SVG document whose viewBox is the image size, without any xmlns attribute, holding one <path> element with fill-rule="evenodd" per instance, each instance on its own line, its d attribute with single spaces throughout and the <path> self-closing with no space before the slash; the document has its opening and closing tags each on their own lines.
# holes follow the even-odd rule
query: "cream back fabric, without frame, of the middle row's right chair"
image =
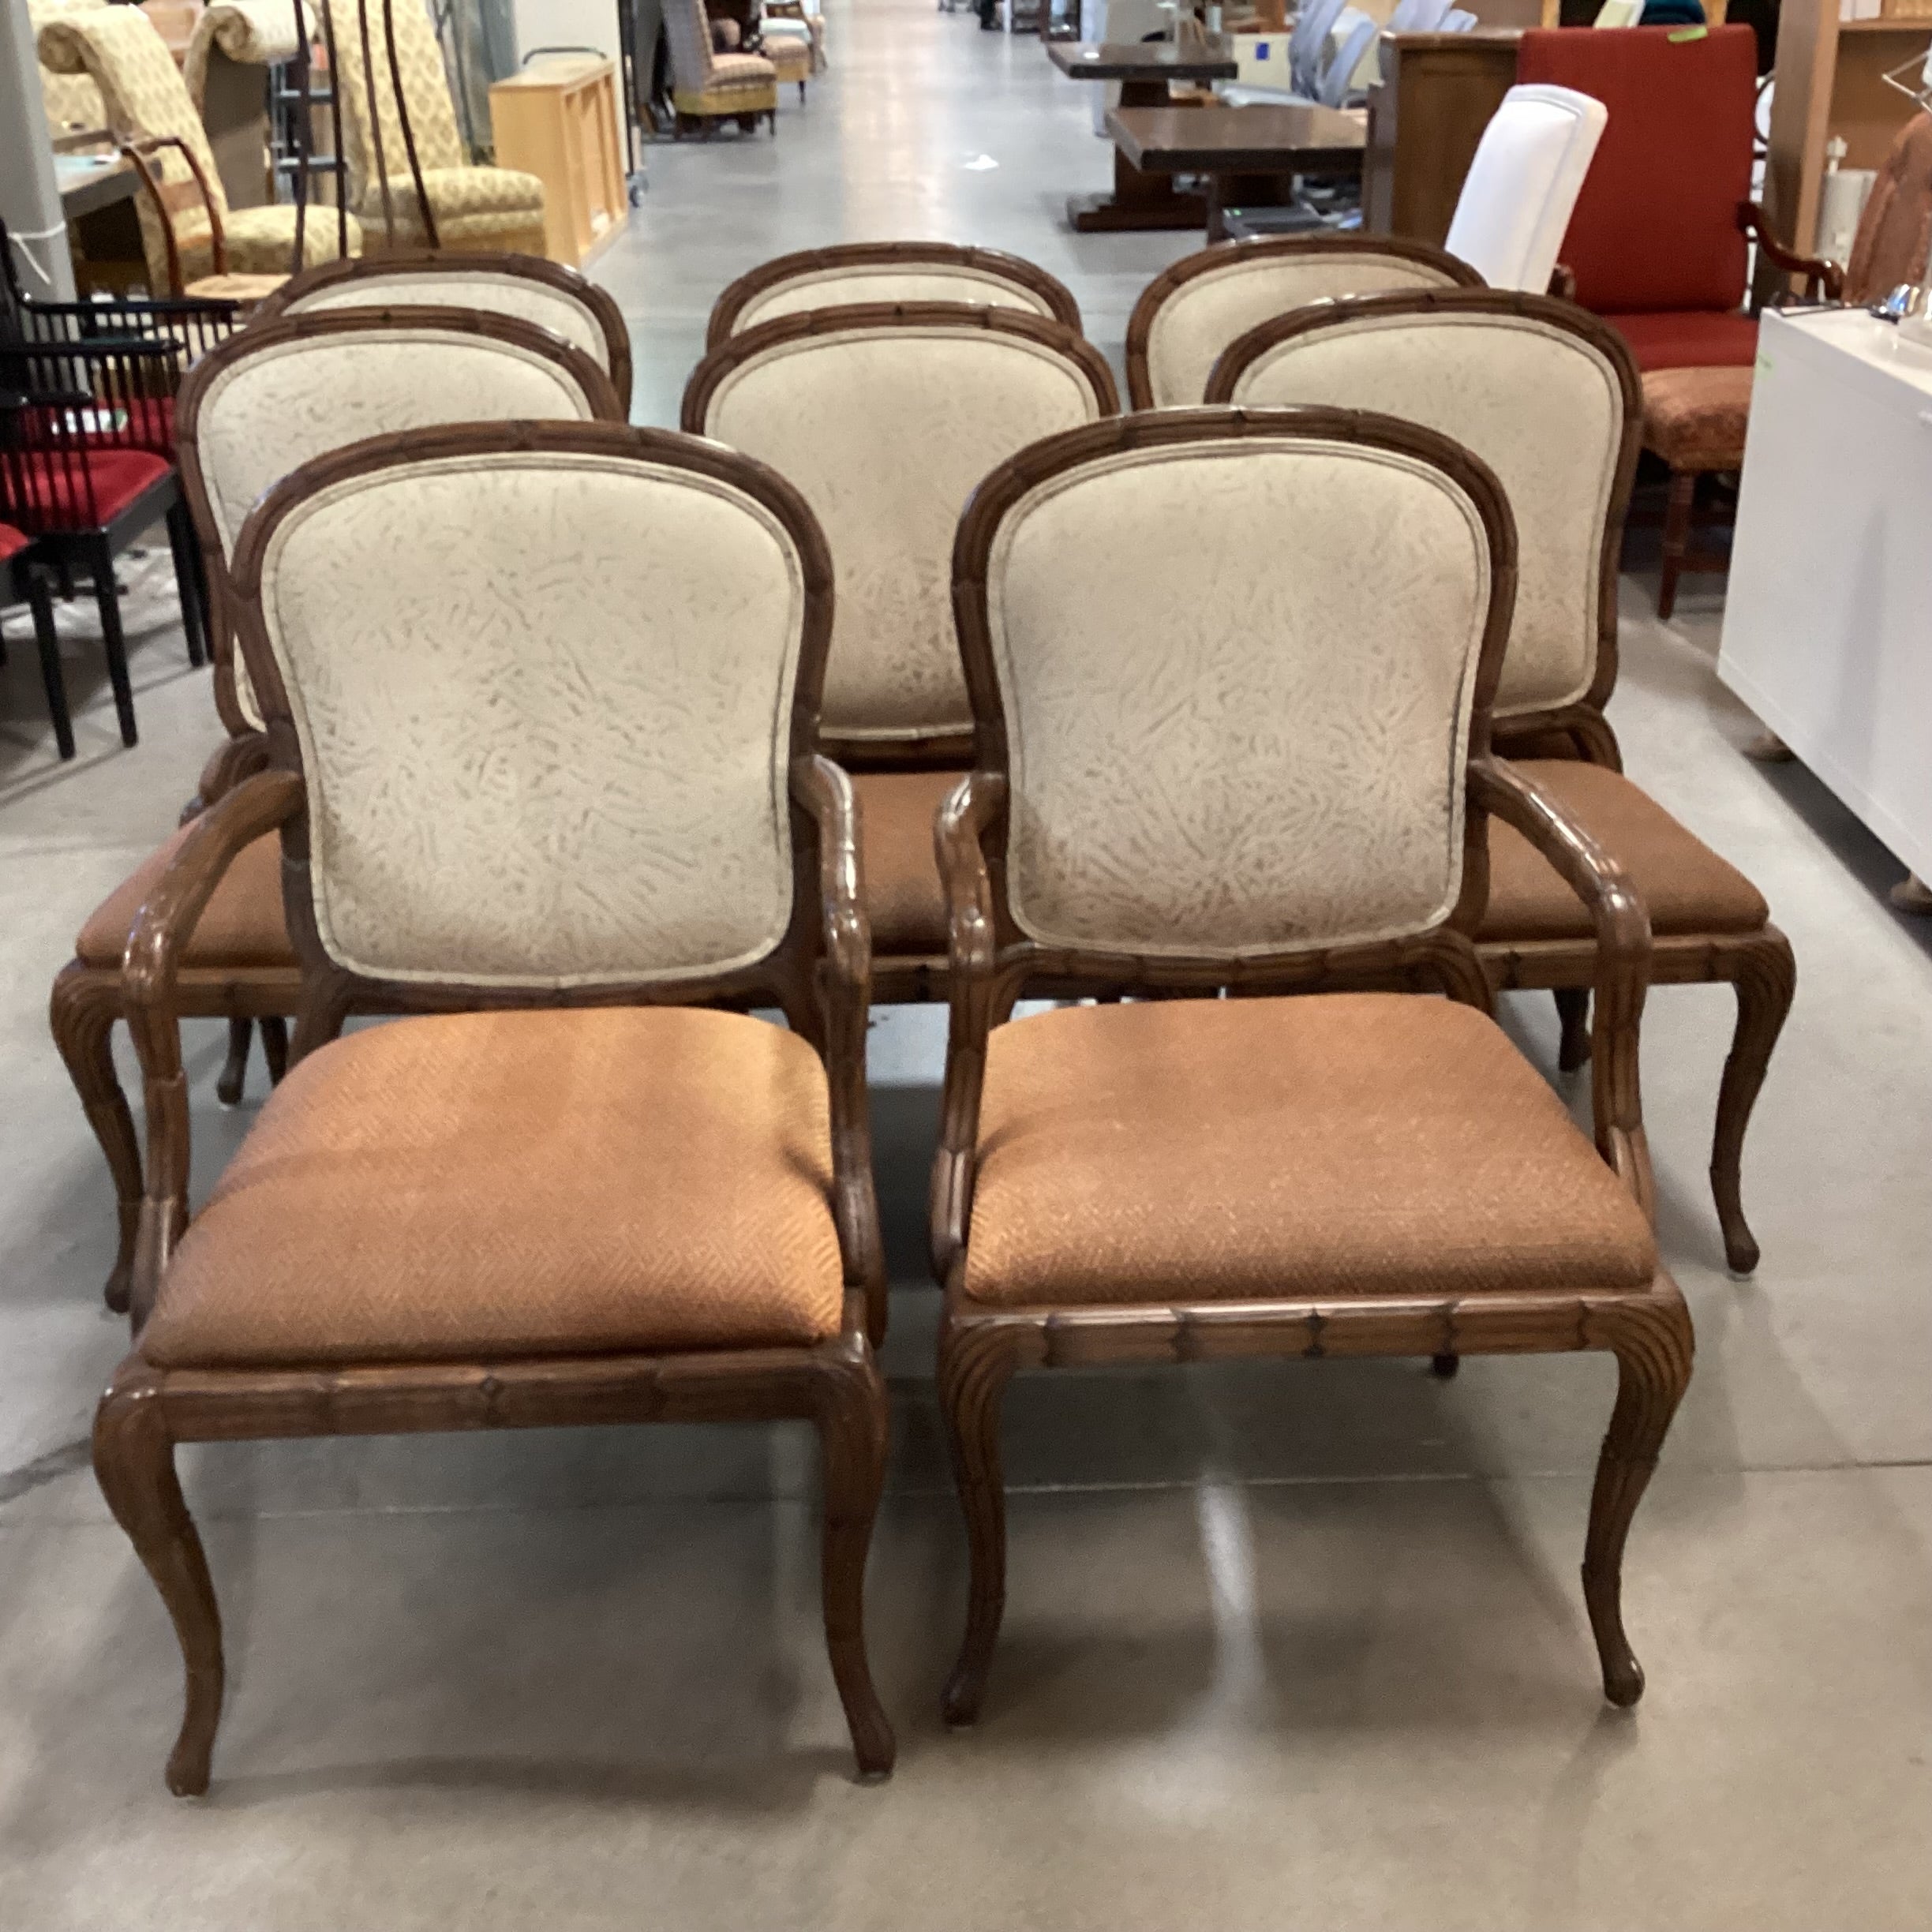
<svg viewBox="0 0 1932 1932">
<path fill-rule="evenodd" d="M 1590 690 L 1623 440 L 1623 384 L 1607 355 L 1520 315 L 1391 315 L 1283 342 L 1235 400 L 1385 410 L 1474 450 L 1509 495 L 1520 545 L 1497 715 Z"/>
</svg>

